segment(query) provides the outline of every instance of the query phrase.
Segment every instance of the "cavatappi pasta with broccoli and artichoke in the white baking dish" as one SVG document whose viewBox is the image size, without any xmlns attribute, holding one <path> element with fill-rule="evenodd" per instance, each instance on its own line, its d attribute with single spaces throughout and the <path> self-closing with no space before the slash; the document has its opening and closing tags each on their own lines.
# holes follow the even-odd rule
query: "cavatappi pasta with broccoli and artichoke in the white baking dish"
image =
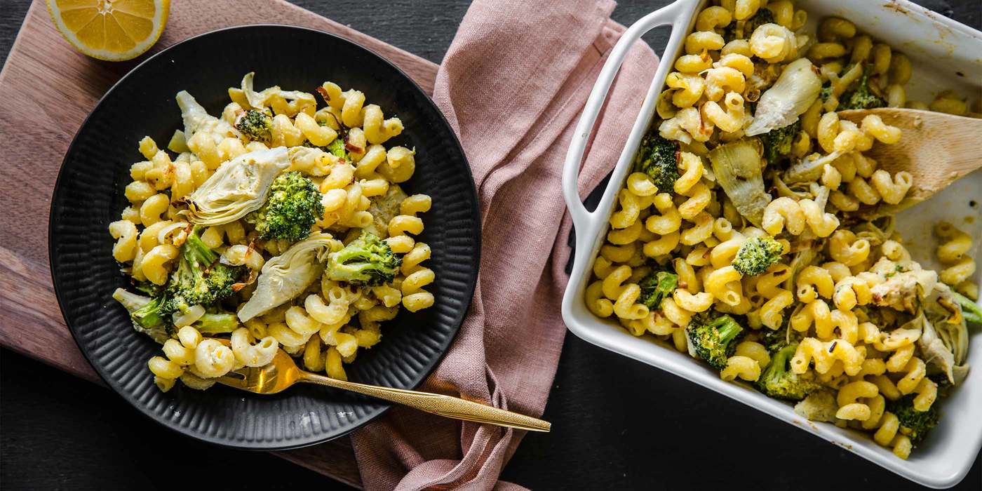
<svg viewBox="0 0 982 491">
<path fill-rule="evenodd" d="M 907 99 L 910 60 L 845 19 L 808 32 L 788 0 L 715 3 L 667 77 L 586 306 L 906 459 L 967 372 L 972 240 L 941 223 L 944 268 L 914 261 L 888 211 L 911 176 L 864 154 L 900 129 L 837 111 L 977 114 L 950 91 Z"/>
</svg>

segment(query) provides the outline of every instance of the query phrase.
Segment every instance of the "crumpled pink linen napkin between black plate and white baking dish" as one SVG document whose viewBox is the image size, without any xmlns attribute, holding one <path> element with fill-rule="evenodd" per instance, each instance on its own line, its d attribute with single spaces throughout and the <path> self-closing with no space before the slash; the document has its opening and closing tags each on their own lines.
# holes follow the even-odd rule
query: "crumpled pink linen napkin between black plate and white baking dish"
<svg viewBox="0 0 982 491">
<path fill-rule="evenodd" d="M 480 199 L 481 268 L 450 353 L 421 390 L 541 415 L 566 326 L 571 221 L 563 161 L 579 112 L 624 30 L 613 0 L 476 0 L 433 99 L 464 144 Z M 589 191 L 620 156 L 658 58 L 630 50 L 579 176 Z M 352 437 L 368 490 L 521 489 L 499 482 L 524 431 L 396 407 Z M 548 436 L 544 436 L 548 438 Z"/>
</svg>

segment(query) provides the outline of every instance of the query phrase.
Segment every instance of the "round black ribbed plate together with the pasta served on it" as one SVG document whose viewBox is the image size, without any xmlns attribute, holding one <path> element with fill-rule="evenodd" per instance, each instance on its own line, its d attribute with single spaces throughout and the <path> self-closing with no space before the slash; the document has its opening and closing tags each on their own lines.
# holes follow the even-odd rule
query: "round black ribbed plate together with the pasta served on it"
<svg viewBox="0 0 982 491">
<path fill-rule="evenodd" d="M 249 97 L 268 95 L 264 104 L 246 97 L 243 76 L 252 71 Z M 325 81 L 334 81 L 337 92 Z M 266 91 L 273 83 L 281 88 Z M 355 99 L 348 103 L 349 117 L 363 113 L 362 122 L 346 124 L 345 104 L 333 108 L 317 87 L 331 98 L 363 92 L 360 110 Z M 188 94 L 177 97 L 182 89 Z M 232 101 L 242 113 L 234 105 L 225 112 Z M 249 109 L 256 112 L 246 117 Z M 329 112 L 341 120 L 337 130 L 324 119 Z M 399 135 L 393 118 L 403 123 Z M 237 128 L 246 121 L 269 123 L 265 148 Z M 189 124 L 197 125 L 195 131 L 188 131 Z M 173 137 L 176 130 L 183 143 L 180 134 Z M 352 145 L 331 147 L 346 136 Z M 169 148 L 172 143 L 178 151 Z M 372 150 L 374 145 L 381 148 Z M 360 159 L 352 156 L 358 147 Z M 375 165 L 373 172 L 366 164 Z M 391 223 L 397 216 L 403 218 Z M 389 406 L 313 386 L 275 396 L 197 389 L 211 385 L 209 374 L 229 364 L 260 363 L 274 347 L 322 373 L 330 368 L 352 381 L 417 387 L 464 319 L 480 256 L 478 217 L 463 149 L 408 76 L 324 32 L 233 27 L 148 58 L 93 109 L 69 147 L 52 196 L 51 272 L 82 355 L 135 409 L 217 445 L 296 448 L 344 435 Z M 134 280 L 135 269 L 146 278 Z M 324 279 L 328 269 L 336 279 Z M 184 301 L 176 300 L 176 273 Z M 117 294 L 124 305 L 113 299 L 120 288 L 127 292 Z M 134 329 L 124 306 L 153 310 L 147 300 L 163 303 L 164 295 L 170 306 L 157 311 L 170 320 L 149 322 L 158 329 L 147 332 L 162 334 L 153 340 Z M 243 310 L 246 300 L 252 302 Z M 322 333 L 323 320 L 345 322 Z M 214 338 L 221 348 L 207 341 Z M 316 355 L 312 339 L 319 343 Z M 150 362 L 154 356 L 160 358 Z M 162 392 L 155 379 L 169 390 Z"/>
</svg>

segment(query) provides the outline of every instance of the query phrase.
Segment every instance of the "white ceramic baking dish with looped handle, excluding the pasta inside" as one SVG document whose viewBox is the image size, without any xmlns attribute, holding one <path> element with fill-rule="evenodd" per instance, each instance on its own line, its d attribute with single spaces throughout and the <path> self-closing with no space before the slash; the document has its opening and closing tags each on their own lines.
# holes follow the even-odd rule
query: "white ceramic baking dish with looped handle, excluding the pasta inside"
<svg viewBox="0 0 982 491">
<path fill-rule="evenodd" d="M 947 488 L 959 482 L 971 467 L 982 446 L 982 333 L 973 330 L 968 362 L 974 365 L 964 384 L 950 398 L 939 401 L 941 424 L 914 452 L 901 461 L 889 449 L 872 441 L 869 435 L 812 423 L 796 415 L 790 404 L 769 399 L 748 386 L 720 380 L 718 373 L 704 364 L 648 337 L 635 338 L 613 321 L 599 319 L 586 309 L 583 291 L 589 281 L 593 259 L 607 233 L 608 219 L 618 191 L 623 186 L 634 152 L 655 111 L 655 102 L 665 77 L 680 54 L 682 40 L 690 32 L 695 14 L 706 0 L 679 0 L 653 12 L 629 27 L 614 48 L 587 100 L 583 115 L 567 155 L 563 192 L 576 229 L 573 273 L 563 299 L 563 319 L 573 334 L 613 352 L 657 366 L 703 385 L 736 401 L 760 409 L 796 427 L 818 435 L 860 457 L 898 474 L 934 488 Z M 982 32 L 904 0 L 800 0 L 795 2 L 809 15 L 810 32 L 819 19 L 844 17 L 859 29 L 904 52 L 913 62 L 914 74 L 907 85 L 908 98 L 930 102 L 944 89 L 952 88 L 974 98 L 982 92 Z M 607 90 L 621 67 L 628 47 L 642 34 L 658 26 L 672 26 L 672 36 L 654 81 L 648 89 L 640 114 L 614 169 L 610 185 L 594 212 L 582 205 L 576 178 L 583 152 Z M 931 227 L 940 219 L 951 221 L 975 238 L 973 257 L 982 260 L 982 172 L 971 174 L 934 198 L 900 214 L 898 229 L 914 257 L 925 266 L 932 264 L 936 246 Z M 982 268 L 980 268 L 982 269 Z M 978 281 L 978 274 L 976 275 Z"/>
</svg>

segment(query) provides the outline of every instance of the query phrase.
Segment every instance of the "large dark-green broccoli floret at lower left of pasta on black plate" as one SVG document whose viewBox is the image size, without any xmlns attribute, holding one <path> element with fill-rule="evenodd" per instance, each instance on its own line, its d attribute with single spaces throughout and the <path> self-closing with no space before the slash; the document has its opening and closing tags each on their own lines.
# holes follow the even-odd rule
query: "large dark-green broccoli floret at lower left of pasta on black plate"
<svg viewBox="0 0 982 491">
<path fill-rule="evenodd" d="M 246 269 L 218 262 L 218 252 L 205 246 L 199 233 L 200 228 L 194 228 L 181 246 L 181 262 L 167 284 L 175 309 L 183 303 L 210 305 L 231 296 L 232 286 Z"/>
</svg>

